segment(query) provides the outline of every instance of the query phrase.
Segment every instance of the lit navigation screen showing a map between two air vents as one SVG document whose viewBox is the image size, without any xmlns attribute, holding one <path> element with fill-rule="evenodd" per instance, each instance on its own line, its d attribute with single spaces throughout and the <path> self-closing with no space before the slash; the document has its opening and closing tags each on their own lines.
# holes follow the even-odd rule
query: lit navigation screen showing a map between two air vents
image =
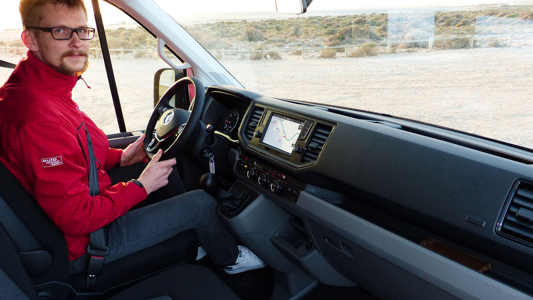
<svg viewBox="0 0 533 300">
<path fill-rule="evenodd" d="M 290 154 L 293 151 L 298 135 L 302 131 L 303 124 L 304 121 L 273 113 L 269 123 L 266 125 L 261 142 Z"/>
</svg>

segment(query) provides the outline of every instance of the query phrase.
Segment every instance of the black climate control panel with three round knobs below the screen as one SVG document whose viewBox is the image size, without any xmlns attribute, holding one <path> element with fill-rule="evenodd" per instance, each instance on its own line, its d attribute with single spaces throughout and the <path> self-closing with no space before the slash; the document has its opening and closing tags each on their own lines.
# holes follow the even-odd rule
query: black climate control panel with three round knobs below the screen
<svg viewBox="0 0 533 300">
<path fill-rule="evenodd" d="M 264 190 L 295 204 L 300 195 L 302 183 L 283 172 L 260 163 L 251 157 L 237 161 L 235 171 Z"/>
</svg>

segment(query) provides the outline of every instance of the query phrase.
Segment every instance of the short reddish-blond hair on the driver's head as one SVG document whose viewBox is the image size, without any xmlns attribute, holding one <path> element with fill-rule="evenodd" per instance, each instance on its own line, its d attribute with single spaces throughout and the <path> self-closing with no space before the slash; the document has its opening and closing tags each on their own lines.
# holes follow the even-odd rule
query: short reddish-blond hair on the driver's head
<svg viewBox="0 0 533 300">
<path fill-rule="evenodd" d="M 21 0 L 19 11 L 22 19 L 22 28 L 38 27 L 39 22 L 44 18 L 43 9 L 49 3 L 56 5 L 58 8 L 63 5 L 70 9 L 82 7 L 85 17 L 87 17 L 87 9 L 85 9 L 83 0 Z"/>
</svg>

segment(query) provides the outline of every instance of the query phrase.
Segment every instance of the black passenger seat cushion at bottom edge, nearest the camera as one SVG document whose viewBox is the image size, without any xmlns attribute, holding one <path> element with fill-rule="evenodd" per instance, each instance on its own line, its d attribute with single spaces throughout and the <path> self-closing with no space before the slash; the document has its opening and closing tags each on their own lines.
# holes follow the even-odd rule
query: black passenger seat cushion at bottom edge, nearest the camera
<svg viewBox="0 0 533 300">
<path fill-rule="evenodd" d="M 161 298 L 159 298 L 161 297 Z M 205 266 L 183 264 L 154 275 L 109 298 L 118 299 L 240 299 Z"/>
</svg>

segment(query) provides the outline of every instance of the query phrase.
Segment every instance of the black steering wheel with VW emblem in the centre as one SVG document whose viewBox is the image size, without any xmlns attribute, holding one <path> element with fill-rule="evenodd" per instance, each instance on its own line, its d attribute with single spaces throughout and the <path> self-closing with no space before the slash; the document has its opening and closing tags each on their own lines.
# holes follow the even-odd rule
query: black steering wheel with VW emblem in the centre
<svg viewBox="0 0 533 300">
<path fill-rule="evenodd" d="M 169 101 L 180 88 L 192 84 L 195 88 L 195 98 L 189 110 L 174 108 Z M 157 102 L 154 112 L 146 126 L 144 151 L 151 159 L 159 149 L 163 150 L 161 160 L 174 157 L 187 146 L 191 134 L 196 129 L 204 110 L 204 84 L 196 77 L 183 77 L 177 80 Z M 154 134 L 154 129 L 156 130 Z"/>
</svg>

